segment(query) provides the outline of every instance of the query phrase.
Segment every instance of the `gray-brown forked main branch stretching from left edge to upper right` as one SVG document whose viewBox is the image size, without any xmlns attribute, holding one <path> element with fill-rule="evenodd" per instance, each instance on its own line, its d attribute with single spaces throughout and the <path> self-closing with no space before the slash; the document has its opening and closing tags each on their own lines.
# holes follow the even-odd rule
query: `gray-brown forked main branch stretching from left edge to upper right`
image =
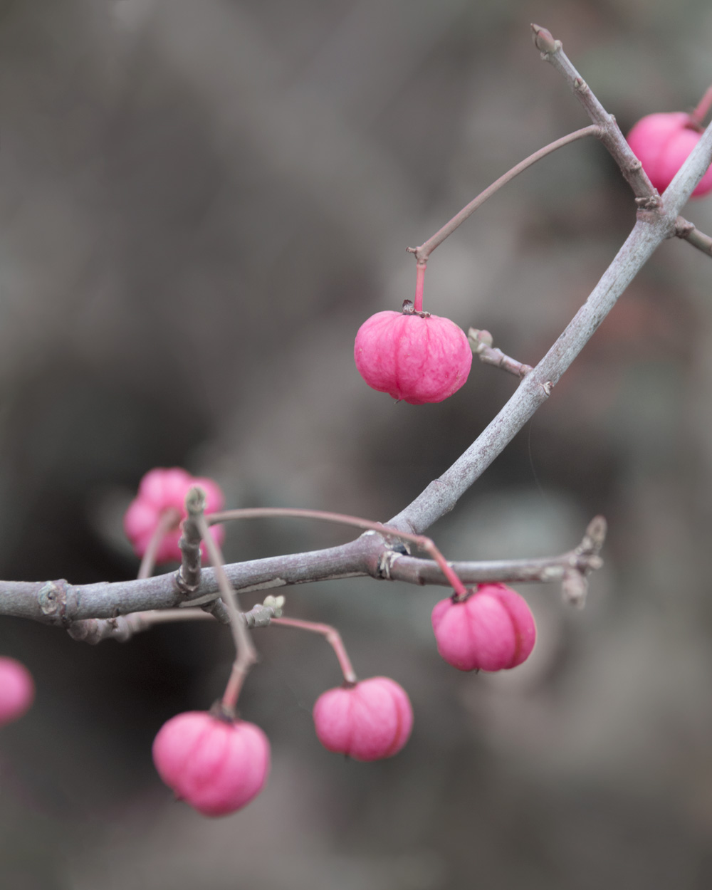
<svg viewBox="0 0 712 890">
<path fill-rule="evenodd" d="M 433 522 L 441 518 L 457 504 L 465 491 L 476 481 L 495 457 L 506 448 L 522 426 L 532 417 L 552 392 L 562 374 L 593 336 L 608 312 L 626 289 L 635 274 L 650 258 L 659 244 L 676 234 L 678 215 L 695 186 L 712 161 L 712 126 L 708 126 L 670 183 L 661 200 L 651 190 L 650 182 L 642 170 L 630 162 L 626 148 L 620 144 L 613 118 L 595 100 L 595 96 L 581 81 L 578 72 L 563 55 L 561 44 L 554 41 L 544 29 L 535 29 L 538 48 L 547 61 L 559 69 L 570 82 L 572 89 L 584 104 L 597 125 L 604 126 L 609 134 L 602 139 L 614 158 L 621 158 L 624 175 L 637 198 L 638 219 L 623 247 L 603 273 L 586 303 L 581 306 L 562 335 L 556 340 L 536 368 L 519 384 L 506 405 L 499 411 L 469 449 L 413 500 L 409 506 L 394 516 L 388 525 L 401 530 L 422 534 Z M 550 43 L 547 43 L 547 40 Z M 584 89 L 584 87 L 586 87 Z M 617 131 L 618 134 L 620 131 Z M 622 134 L 621 134 L 622 138 Z M 623 140 L 625 142 L 625 140 Z M 626 143 L 627 146 L 627 143 Z M 688 235 L 689 239 L 689 235 Z M 383 564 L 392 553 L 383 538 L 367 533 L 349 544 L 331 547 L 312 553 L 275 556 L 270 559 L 240 562 L 228 565 L 225 570 L 231 584 L 239 592 L 283 587 L 307 581 L 352 578 L 370 575 L 384 577 Z M 399 556 L 389 568 L 391 578 L 416 580 L 416 583 L 442 583 L 443 578 L 434 563 Z M 531 565 L 530 562 L 526 563 Z M 486 568 L 482 570 L 482 566 Z M 525 577 L 513 569 L 496 563 L 456 563 L 457 574 L 465 583 L 478 580 L 546 580 L 546 566 L 538 567 L 538 577 Z M 593 568 L 593 565 L 590 566 Z M 401 576 L 402 572 L 402 576 Z M 415 572 L 415 574 L 414 574 Z M 433 572 L 433 574 L 429 574 Z M 481 572 L 481 574 L 479 574 Z M 536 574 L 534 570 L 533 574 Z M 542 572 L 544 575 L 542 575 Z M 195 596 L 187 604 L 210 602 L 218 587 L 214 570 L 203 570 Z M 575 591 L 572 591 L 575 595 Z M 0 582 L 0 614 L 16 615 L 69 627 L 73 621 L 83 619 L 111 619 L 119 614 L 150 609 L 169 609 L 185 603 L 184 594 L 176 584 L 175 575 L 158 578 L 117 582 L 115 584 L 69 585 L 66 581 L 48 581 L 44 584 L 29 582 Z"/>
</svg>

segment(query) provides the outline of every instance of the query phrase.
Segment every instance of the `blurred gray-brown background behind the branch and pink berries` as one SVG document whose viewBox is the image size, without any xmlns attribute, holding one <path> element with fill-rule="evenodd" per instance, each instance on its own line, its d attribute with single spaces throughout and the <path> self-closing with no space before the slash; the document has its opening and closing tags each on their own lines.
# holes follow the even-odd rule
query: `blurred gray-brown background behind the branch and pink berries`
<svg viewBox="0 0 712 890">
<path fill-rule="evenodd" d="M 624 131 L 712 81 L 707 3 L 4 0 L 0 4 L 0 577 L 130 578 L 121 514 L 154 465 L 231 506 L 385 520 L 473 441 L 514 378 L 441 405 L 362 383 L 353 337 L 410 297 L 406 246 L 588 123 L 530 42 L 561 38 Z M 712 231 L 712 199 L 685 214 Z M 603 148 L 500 192 L 431 260 L 425 307 L 536 363 L 634 223 Z M 552 399 L 432 534 L 449 558 L 535 556 L 610 522 L 586 611 L 522 587 L 538 648 L 503 676 L 437 656 L 437 589 L 287 591 L 361 676 L 409 692 L 413 737 L 362 765 L 320 748 L 336 659 L 255 633 L 242 701 L 267 789 L 208 821 L 150 743 L 207 708 L 222 627 L 90 648 L 0 623 L 35 707 L 0 733 L 0 882 L 18 890 L 712 886 L 712 263 L 659 252 Z M 344 530 L 232 528 L 231 561 Z M 246 604 L 249 604 L 247 598 Z"/>
</svg>

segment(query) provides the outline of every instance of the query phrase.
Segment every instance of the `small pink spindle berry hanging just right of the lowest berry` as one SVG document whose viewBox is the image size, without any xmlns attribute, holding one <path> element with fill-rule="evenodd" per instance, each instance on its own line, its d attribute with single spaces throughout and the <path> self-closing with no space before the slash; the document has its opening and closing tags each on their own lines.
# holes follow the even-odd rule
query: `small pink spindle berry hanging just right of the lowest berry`
<svg viewBox="0 0 712 890">
<path fill-rule="evenodd" d="M 387 676 L 322 692 L 313 716 L 324 748 L 354 760 L 398 754 L 413 728 L 408 693 Z"/>
</svg>

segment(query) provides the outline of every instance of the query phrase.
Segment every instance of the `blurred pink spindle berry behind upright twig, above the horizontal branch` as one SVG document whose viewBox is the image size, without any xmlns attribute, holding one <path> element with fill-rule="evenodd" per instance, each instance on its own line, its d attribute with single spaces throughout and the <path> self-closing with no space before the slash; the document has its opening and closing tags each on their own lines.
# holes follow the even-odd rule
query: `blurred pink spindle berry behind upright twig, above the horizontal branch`
<svg viewBox="0 0 712 890">
<path fill-rule="evenodd" d="M 217 483 L 212 479 L 194 478 L 178 466 L 171 469 L 156 467 L 150 470 L 139 483 L 139 493 L 131 502 L 124 516 L 126 537 L 134 545 L 134 552 L 141 557 L 149 546 L 151 537 L 158 526 L 162 514 L 167 510 L 177 511 L 174 528 L 166 532 L 158 545 L 156 562 L 181 560 L 181 538 L 179 523 L 185 519 L 185 496 L 188 491 L 198 485 L 206 493 L 206 513 L 215 513 L 223 509 L 225 498 Z M 225 530 L 222 525 L 211 526 L 210 533 L 217 544 L 223 543 Z M 205 544 L 201 545 L 203 558 L 206 557 Z"/>
</svg>

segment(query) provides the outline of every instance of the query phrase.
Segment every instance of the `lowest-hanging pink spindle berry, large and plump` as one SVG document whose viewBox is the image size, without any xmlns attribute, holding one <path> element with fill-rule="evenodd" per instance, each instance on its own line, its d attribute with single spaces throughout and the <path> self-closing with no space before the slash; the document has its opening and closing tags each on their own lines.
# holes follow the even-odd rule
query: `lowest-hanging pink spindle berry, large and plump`
<svg viewBox="0 0 712 890">
<path fill-rule="evenodd" d="M 224 816 L 263 789 L 270 742 L 255 724 L 188 711 L 158 731 L 153 762 L 176 797 L 204 816 Z"/>
</svg>

